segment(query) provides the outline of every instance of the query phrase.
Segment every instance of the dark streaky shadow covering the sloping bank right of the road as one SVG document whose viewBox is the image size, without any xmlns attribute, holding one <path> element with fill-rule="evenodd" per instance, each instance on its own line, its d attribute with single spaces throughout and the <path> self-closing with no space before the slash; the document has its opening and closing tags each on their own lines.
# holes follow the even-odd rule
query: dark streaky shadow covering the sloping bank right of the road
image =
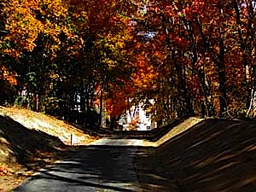
<svg viewBox="0 0 256 192">
<path fill-rule="evenodd" d="M 154 172 L 159 177 L 172 177 L 180 191 L 253 192 L 256 122 L 204 120 L 164 143 L 147 158 L 138 158 L 137 166 L 141 183 L 148 179 L 144 172 Z"/>
</svg>

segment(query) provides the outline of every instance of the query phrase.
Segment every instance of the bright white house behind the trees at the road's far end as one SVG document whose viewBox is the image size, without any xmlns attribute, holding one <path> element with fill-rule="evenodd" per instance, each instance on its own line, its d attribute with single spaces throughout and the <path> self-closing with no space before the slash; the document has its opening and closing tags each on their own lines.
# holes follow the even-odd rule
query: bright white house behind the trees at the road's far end
<svg viewBox="0 0 256 192">
<path fill-rule="evenodd" d="M 154 100 L 148 100 L 150 104 L 154 105 Z M 152 120 L 152 113 L 149 110 L 144 110 L 143 102 L 140 102 L 137 106 L 132 106 L 130 110 L 127 110 L 119 119 L 119 125 L 123 127 L 123 130 L 130 130 L 131 124 L 136 122 L 137 131 L 149 131 L 157 127 L 157 123 Z"/>
</svg>

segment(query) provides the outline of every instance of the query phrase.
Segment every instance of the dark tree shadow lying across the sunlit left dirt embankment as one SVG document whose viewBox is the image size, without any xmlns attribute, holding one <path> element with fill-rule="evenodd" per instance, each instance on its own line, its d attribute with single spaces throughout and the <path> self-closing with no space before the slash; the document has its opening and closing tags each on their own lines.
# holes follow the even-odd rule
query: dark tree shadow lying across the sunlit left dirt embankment
<svg viewBox="0 0 256 192">
<path fill-rule="evenodd" d="M 47 164 L 57 148 L 65 144 L 57 137 L 43 131 L 30 130 L 8 116 L 0 115 L 0 149 L 6 152 L 0 160 L 4 163 L 19 163 L 27 170 L 35 170 L 37 166 Z M 47 161 L 48 161 L 47 160 Z"/>
</svg>

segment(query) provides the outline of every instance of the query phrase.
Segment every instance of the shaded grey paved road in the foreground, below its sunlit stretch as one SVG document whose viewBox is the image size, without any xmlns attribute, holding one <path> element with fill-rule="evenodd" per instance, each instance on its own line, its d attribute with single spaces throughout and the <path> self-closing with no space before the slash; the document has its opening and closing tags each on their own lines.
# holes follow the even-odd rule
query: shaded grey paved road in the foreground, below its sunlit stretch
<svg viewBox="0 0 256 192">
<path fill-rule="evenodd" d="M 153 148 L 90 146 L 70 151 L 55 166 L 29 178 L 15 192 L 177 191 L 176 183 L 155 175 L 139 157 Z M 160 189 L 160 190 L 159 190 Z"/>
</svg>

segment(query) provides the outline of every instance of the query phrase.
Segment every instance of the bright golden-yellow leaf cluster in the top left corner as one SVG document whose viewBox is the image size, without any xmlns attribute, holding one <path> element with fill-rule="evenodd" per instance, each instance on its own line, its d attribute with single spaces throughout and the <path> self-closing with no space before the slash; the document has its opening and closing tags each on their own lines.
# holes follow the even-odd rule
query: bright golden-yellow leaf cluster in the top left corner
<svg viewBox="0 0 256 192">
<path fill-rule="evenodd" d="M 35 10 L 39 12 L 39 18 Z M 38 35 L 45 34 L 52 41 L 49 51 L 53 51 L 54 55 L 61 44 L 58 36 L 62 30 L 68 37 L 71 36 L 58 21 L 67 16 L 67 4 L 61 0 L 9 0 L 3 12 L 7 15 L 6 30 L 9 31 L 4 40 L 13 42 L 20 51 L 32 51 Z M 44 18 L 44 22 L 40 17 Z"/>
</svg>

